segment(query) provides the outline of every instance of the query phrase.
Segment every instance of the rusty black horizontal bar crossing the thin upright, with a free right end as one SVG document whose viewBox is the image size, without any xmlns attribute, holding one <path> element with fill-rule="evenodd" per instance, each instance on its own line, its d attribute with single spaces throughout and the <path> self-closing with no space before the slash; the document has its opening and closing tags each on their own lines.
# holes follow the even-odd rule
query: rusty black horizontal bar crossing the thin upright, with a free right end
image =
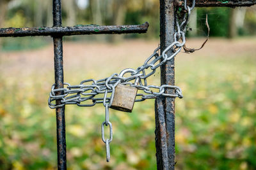
<svg viewBox="0 0 256 170">
<path fill-rule="evenodd" d="M 24 27 L 0 29 L 0 37 L 21 36 L 73 36 L 83 34 L 145 33 L 148 22 L 141 25 L 75 25 L 74 27 Z"/>
</svg>

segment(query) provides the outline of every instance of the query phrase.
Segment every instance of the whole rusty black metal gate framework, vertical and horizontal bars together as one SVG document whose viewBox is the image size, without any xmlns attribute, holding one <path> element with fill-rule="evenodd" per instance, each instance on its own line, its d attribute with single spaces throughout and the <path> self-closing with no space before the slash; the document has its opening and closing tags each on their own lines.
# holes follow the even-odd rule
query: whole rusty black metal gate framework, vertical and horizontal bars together
<svg viewBox="0 0 256 170">
<path fill-rule="evenodd" d="M 184 0 L 159 0 L 160 1 L 160 43 L 161 52 L 170 46 L 174 41 L 175 34 L 175 8 L 182 6 Z M 193 0 L 188 0 L 191 5 Z M 185 0 L 186 2 L 186 0 Z M 196 0 L 195 6 L 251 6 L 256 0 Z M 61 24 L 61 0 L 52 0 L 53 27 L 33 28 L 8 28 L 0 29 L 0 37 L 22 37 L 22 36 L 52 36 L 54 44 L 54 74 L 55 89 L 63 88 L 63 36 L 82 34 L 127 34 L 145 33 L 148 23 L 142 25 L 120 25 L 120 26 L 98 26 L 79 25 L 74 27 L 62 27 Z M 173 51 L 168 50 L 168 55 Z M 175 84 L 174 58 L 161 66 L 161 85 Z M 166 90 L 166 93 L 172 91 Z M 63 91 L 56 92 L 62 95 Z M 57 100 L 56 104 L 61 104 Z M 156 99 L 156 157 L 157 169 L 175 168 L 175 97 L 159 96 Z M 56 108 L 57 124 L 57 148 L 58 148 L 58 169 L 67 169 L 66 139 L 65 139 L 65 105 Z"/>
</svg>

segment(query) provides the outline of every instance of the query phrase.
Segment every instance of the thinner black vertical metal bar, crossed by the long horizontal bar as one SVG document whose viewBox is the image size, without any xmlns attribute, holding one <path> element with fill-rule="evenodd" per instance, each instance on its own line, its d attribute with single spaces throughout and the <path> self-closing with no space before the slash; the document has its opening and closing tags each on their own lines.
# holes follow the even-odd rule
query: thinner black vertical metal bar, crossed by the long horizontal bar
<svg viewBox="0 0 256 170">
<path fill-rule="evenodd" d="M 52 0 L 53 26 L 61 27 L 61 0 Z M 63 43 L 62 36 L 52 36 L 54 43 L 55 88 L 63 88 Z M 60 95 L 63 92 L 59 92 Z M 61 100 L 56 101 L 61 104 Z M 58 169 L 67 169 L 65 106 L 56 108 Z"/>
</svg>

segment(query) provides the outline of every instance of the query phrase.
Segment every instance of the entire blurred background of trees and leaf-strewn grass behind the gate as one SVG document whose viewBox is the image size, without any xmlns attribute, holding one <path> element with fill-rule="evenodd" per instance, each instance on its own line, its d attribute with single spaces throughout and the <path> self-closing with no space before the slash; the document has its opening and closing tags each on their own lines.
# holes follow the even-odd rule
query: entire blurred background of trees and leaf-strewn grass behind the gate
<svg viewBox="0 0 256 170">
<path fill-rule="evenodd" d="M 52 26 L 51 2 L 1 0 L 0 27 Z M 255 39 L 256 34 L 255 9 L 255 6 L 197 8 L 191 16 L 192 31 L 188 32 L 191 38 L 206 36 L 207 14 L 210 36 L 233 40 L 217 39 L 209 43 L 204 53 L 181 56 L 184 59 L 177 60 L 176 81 L 185 95 L 184 99 L 177 100 L 177 169 L 256 169 L 256 48 L 252 47 L 256 41 L 250 39 Z M 68 82 L 77 84 L 85 78 L 102 78 L 142 63 L 145 53 L 157 46 L 148 42 L 159 38 L 159 1 L 63 0 L 64 26 L 142 24 L 145 21 L 150 24 L 147 34 L 65 38 L 65 42 L 83 43 L 89 49 L 86 53 L 94 49 L 81 62 L 88 64 L 77 66 L 80 60 L 73 61 L 74 50 L 66 52 L 64 48 L 67 62 L 71 63 L 65 66 Z M 129 43 L 127 39 L 132 38 L 140 39 Z M 123 44 L 122 39 L 128 43 Z M 47 48 L 51 41 L 51 38 L 0 39 L 0 169 L 56 169 L 56 120 L 54 110 L 47 106 L 54 80 L 52 49 Z M 142 43 L 138 45 L 138 41 Z M 106 44 L 109 42 L 112 44 Z M 88 47 L 91 43 L 95 47 Z M 236 46 L 228 47 L 228 43 Z M 146 50 L 138 50 L 144 44 Z M 215 52 L 216 46 L 218 52 L 223 52 L 221 55 Z M 42 47 L 47 48 L 47 52 L 29 50 Z M 95 67 L 99 62 L 104 66 L 109 60 L 98 59 L 95 51 L 100 56 L 105 56 L 107 51 L 108 57 L 121 53 L 122 61 L 118 63 L 115 57 L 111 58 L 111 67 L 100 67 L 99 73 Z M 30 58 L 26 58 L 27 55 Z M 42 58 L 36 60 L 37 57 Z M 43 58 L 49 62 L 44 62 Z M 97 62 L 91 61 L 93 58 L 98 59 Z M 159 73 L 149 82 L 159 83 Z M 104 108 L 67 106 L 66 113 L 68 169 L 156 169 L 154 100 L 135 104 L 130 115 L 111 110 L 115 140 L 111 143 L 109 164 L 105 162 L 100 138 Z"/>
</svg>

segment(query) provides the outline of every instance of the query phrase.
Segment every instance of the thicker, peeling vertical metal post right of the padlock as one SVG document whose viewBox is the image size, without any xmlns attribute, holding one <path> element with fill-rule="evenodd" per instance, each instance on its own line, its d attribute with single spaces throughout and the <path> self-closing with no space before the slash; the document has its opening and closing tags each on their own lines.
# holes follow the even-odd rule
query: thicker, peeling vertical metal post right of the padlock
<svg viewBox="0 0 256 170">
<path fill-rule="evenodd" d="M 173 0 L 160 1 L 161 52 L 173 41 L 175 15 Z M 167 53 L 172 55 L 172 50 Z M 161 85 L 175 84 L 174 58 L 161 66 Z M 168 90 L 168 93 L 173 93 Z M 175 169 L 175 98 L 156 99 L 156 156 L 157 169 Z"/>
</svg>

